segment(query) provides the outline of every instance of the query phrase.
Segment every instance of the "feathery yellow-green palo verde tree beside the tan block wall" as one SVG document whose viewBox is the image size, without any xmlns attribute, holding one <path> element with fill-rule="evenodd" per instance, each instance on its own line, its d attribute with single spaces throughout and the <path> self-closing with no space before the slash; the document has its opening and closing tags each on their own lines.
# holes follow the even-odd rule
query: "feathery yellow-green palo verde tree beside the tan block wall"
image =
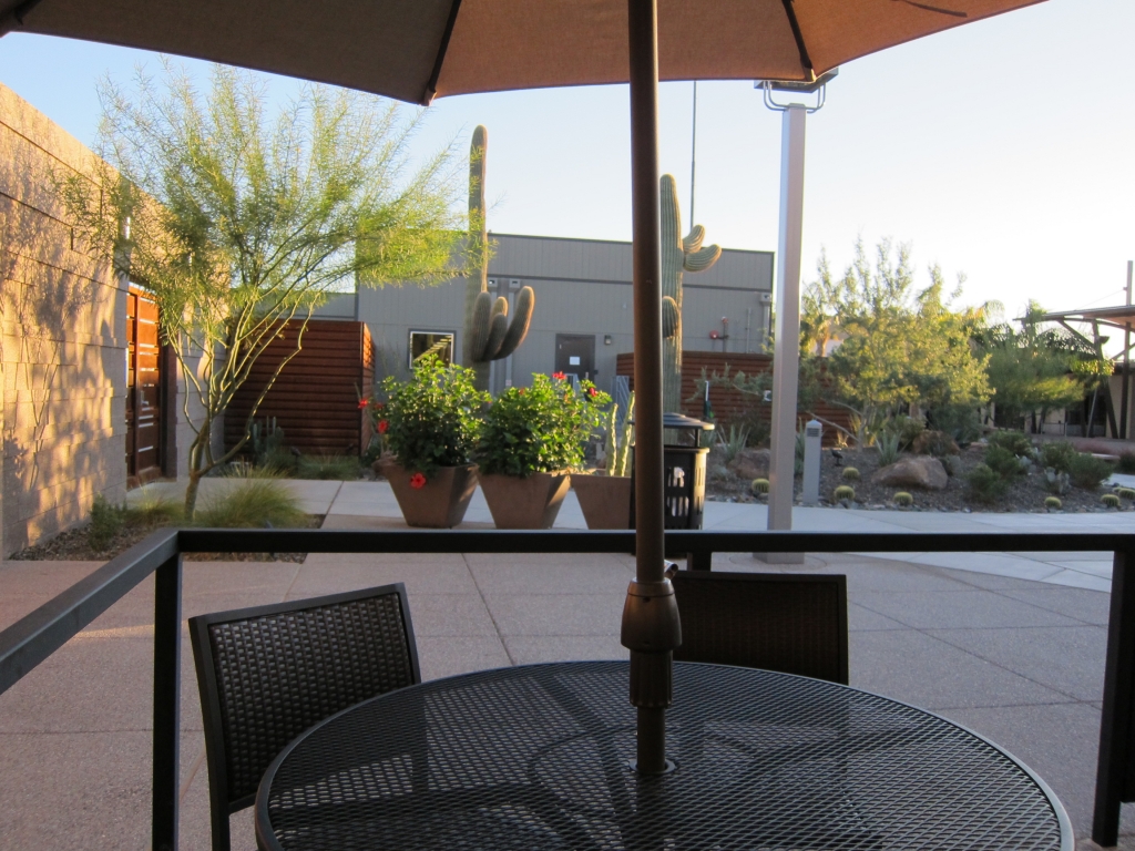
<svg viewBox="0 0 1135 851">
<path fill-rule="evenodd" d="M 158 302 L 188 389 L 192 517 L 202 477 L 243 449 L 328 293 L 453 276 L 463 222 L 451 152 L 412 168 L 421 113 L 355 92 L 305 85 L 269 117 L 262 78 L 221 66 L 207 94 L 166 64 L 160 82 L 140 71 L 133 91 L 108 81 L 100 98 L 108 165 L 56 186 L 76 235 Z M 260 390 L 244 438 L 215 449 L 219 418 L 289 320 L 301 323 L 295 349 Z"/>
</svg>

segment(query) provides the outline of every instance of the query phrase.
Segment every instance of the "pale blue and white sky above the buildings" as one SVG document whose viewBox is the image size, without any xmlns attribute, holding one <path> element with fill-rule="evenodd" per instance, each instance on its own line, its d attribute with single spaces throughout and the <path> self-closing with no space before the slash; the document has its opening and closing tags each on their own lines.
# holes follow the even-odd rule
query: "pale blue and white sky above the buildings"
<svg viewBox="0 0 1135 851">
<path fill-rule="evenodd" d="M 1049 310 L 1124 303 L 1135 259 L 1130 0 L 1048 0 L 858 59 L 809 116 L 804 280 L 857 239 L 911 246 L 918 284 L 966 276 L 960 303 L 1029 300 Z M 0 82 L 79 141 L 99 120 L 96 82 L 128 83 L 157 56 L 11 34 Z M 208 74 L 202 62 L 185 61 Z M 274 81 L 286 96 L 291 81 Z M 690 83 L 661 86 L 661 163 L 690 195 Z M 488 128 L 487 192 L 498 233 L 630 239 L 627 86 L 440 99 L 414 142 L 468 150 Z M 696 218 L 707 242 L 775 251 L 781 115 L 751 81 L 698 84 Z"/>
</svg>

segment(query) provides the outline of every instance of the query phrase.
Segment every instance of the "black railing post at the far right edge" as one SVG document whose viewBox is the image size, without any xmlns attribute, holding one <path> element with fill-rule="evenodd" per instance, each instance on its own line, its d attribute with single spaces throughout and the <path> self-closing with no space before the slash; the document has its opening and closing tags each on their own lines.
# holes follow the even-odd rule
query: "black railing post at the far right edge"
<svg viewBox="0 0 1135 851">
<path fill-rule="evenodd" d="M 1117 550 L 1111 566 L 1108 659 L 1103 676 L 1100 756 L 1095 774 L 1092 841 L 1110 848 L 1119 839 L 1119 806 L 1132 800 L 1132 710 L 1135 708 L 1135 550 Z"/>
</svg>

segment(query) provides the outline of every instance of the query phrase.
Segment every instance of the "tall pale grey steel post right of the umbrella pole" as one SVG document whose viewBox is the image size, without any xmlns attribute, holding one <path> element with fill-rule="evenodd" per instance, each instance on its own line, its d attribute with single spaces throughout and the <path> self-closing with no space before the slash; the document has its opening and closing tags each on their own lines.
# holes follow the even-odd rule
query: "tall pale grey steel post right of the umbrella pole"
<svg viewBox="0 0 1135 851">
<path fill-rule="evenodd" d="M 792 528 L 796 478 L 796 402 L 800 373 L 800 250 L 804 237 L 804 137 L 806 108 L 788 107 L 781 119 L 781 207 L 773 348 L 773 431 L 768 462 L 768 529 Z M 804 561 L 802 554 L 759 555 L 768 562 Z"/>
</svg>

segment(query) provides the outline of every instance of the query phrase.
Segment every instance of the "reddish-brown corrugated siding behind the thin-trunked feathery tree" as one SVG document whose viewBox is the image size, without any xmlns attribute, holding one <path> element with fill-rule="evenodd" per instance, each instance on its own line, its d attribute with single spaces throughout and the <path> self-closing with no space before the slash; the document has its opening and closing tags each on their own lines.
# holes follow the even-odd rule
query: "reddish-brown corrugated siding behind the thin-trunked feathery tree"
<svg viewBox="0 0 1135 851">
<path fill-rule="evenodd" d="M 243 437 L 249 411 L 280 361 L 295 349 L 300 326 L 288 322 L 257 360 L 226 412 L 226 447 Z M 370 421 L 359 411 L 356 388 L 365 394 L 373 380 L 375 352 L 365 323 L 313 319 L 303 347 L 276 379 L 257 420 L 276 418 L 287 445 L 304 454 L 358 454 L 370 443 Z"/>
</svg>

